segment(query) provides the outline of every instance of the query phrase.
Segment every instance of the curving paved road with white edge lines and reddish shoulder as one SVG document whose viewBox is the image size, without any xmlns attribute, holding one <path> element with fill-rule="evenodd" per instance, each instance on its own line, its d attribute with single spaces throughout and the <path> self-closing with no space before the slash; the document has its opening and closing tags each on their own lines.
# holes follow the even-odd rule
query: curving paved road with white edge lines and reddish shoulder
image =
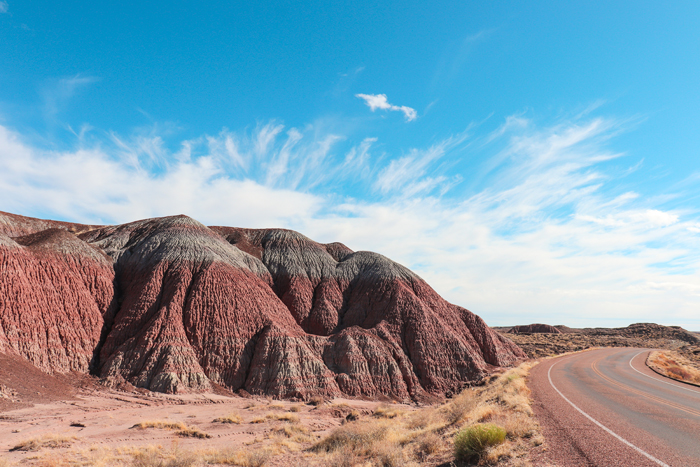
<svg viewBox="0 0 700 467">
<path fill-rule="evenodd" d="M 560 467 L 700 467 L 700 388 L 659 376 L 648 349 L 600 349 L 532 369 L 533 409 Z"/>
</svg>

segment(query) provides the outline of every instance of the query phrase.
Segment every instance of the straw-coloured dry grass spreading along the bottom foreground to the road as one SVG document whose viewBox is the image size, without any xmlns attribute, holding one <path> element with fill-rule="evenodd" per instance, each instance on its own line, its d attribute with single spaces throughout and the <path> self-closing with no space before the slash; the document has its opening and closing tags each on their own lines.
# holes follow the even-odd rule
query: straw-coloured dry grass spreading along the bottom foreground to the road
<svg viewBox="0 0 700 467">
<path fill-rule="evenodd" d="M 70 450 L 46 450 L 41 453 L 41 462 L 46 466 L 259 467 L 271 462 L 274 456 L 289 456 L 294 462 L 310 466 L 409 467 L 449 464 L 456 458 L 470 457 L 479 464 L 495 465 L 503 462 L 512 466 L 524 466 L 527 464 L 523 463 L 526 461 L 523 456 L 533 446 L 542 443 L 539 426 L 532 417 L 529 391 L 525 385 L 525 376 L 531 366 L 528 363 L 491 376 L 483 385 L 467 389 L 442 404 L 418 409 L 387 403 L 380 404 L 372 412 L 367 411 L 365 406 L 360 412 L 355 404 L 332 404 L 319 398 L 324 404 L 323 411 L 319 412 L 322 418 L 337 417 L 336 412 L 345 418 L 342 425 L 324 437 L 313 432 L 324 429 L 323 425 L 306 426 L 300 420 L 301 414 L 298 412 L 304 412 L 306 421 L 314 410 L 307 413 L 309 409 L 303 409 L 299 404 L 263 401 L 257 408 L 265 412 L 258 412 L 260 415 L 252 420 L 246 417 L 246 422 L 267 423 L 267 429 L 251 426 L 250 434 L 253 436 L 242 440 L 243 446 L 221 449 L 204 445 L 201 449 L 185 450 L 179 449 L 176 442 L 173 442 L 170 448 L 149 446 L 88 449 L 67 444 Z M 288 411 L 269 410 L 277 406 Z M 360 416 L 360 413 L 367 415 Z M 237 411 L 223 414 L 212 422 L 243 423 L 243 417 Z M 348 418 L 348 415 L 353 416 Z M 459 446 L 469 446 L 464 433 L 473 434 L 480 427 L 491 426 L 498 427 L 498 443 L 487 440 L 481 450 L 478 446 L 464 452 L 459 450 Z M 195 426 L 167 418 L 144 420 L 133 425 L 133 428 L 172 430 L 173 435 L 191 438 L 207 438 L 210 434 L 215 434 L 209 428 L 209 433 L 205 433 Z M 211 428 L 214 429 L 220 430 L 219 433 L 225 431 L 222 426 Z M 30 442 L 22 444 L 27 449 L 37 446 Z M 478 455 L 473 454 L 477 452 Z M 279 463 L 280 459 L 282 457 L 278 457 L 276 462 Z"/>
</svg>

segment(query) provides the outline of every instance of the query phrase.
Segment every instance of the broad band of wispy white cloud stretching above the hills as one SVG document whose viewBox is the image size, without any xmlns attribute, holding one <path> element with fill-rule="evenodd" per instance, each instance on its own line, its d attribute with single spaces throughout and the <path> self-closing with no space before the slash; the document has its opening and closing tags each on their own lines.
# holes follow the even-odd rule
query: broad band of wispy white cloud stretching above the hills
<svg viewBox="0 0 700 467">
<path fill-rule="evenodd" d="M 625 171 L 608 161 L 630 157 L 607 142 L 623 123 L 542 127 L 521 115 L 495 134 L 399 155 L 373 137 L 354 142 L 279 122 L 179 144 L 158 132 L 112 135 L 63 152 L 0 126 L 0 209 L 83 222 L 185 213 L 210 225 L 293 228 L 406 264 L 490 324 L 700 330 L 700 219 L 619 189 Z M 450 163 L 474 148 L 489 157 L 469 169 Z M 478 190 L 455 185 L 476 176 Z M 342 191 L 350 183 L 360 189 Z M 675 196 L 682 206 L 683 193 Z"/>
</svg>

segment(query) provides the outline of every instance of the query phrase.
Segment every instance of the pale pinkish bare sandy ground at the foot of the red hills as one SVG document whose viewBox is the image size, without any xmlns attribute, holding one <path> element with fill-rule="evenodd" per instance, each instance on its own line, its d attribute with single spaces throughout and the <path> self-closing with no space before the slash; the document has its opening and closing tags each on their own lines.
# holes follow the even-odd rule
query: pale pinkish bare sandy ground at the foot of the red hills
<svg viewBox="0 0 700 467">
<path fill-rule="evenodd" d="M 110 450 L 128 459 L 134 449 L 160 445 L 185 451 L 260 449 L 274 447 L 282 453 L 266 465 L 304 465 L 302 452 L 311 442 L 295 443 L 275 430 L 289 422 L 275 420 L 285 413 L 299 418 L 294 423 L 306 427 L 312 437 L 320 437 L 339 426 L 353 410 L 371 414 L 379 402 L 336 399 L 318 407 L 303 403 L 265 398 L 215 394 L 165 395 L 139 394 L 108 389 L 80 389 L 74 400 L 52 401 L 20 407 L 0 413 L 0 459 L 11 463 L 41 463 L 47 458 L 72 457 L 89 460 L 94 454 Z M 396 404 L 401 405 L 401 404 Z M 403 406 L 406 411 L 412 406 Z M 217 423 L 213 420 L 238 414 L 242 421 Z M 254 420 L 262 422 L 254 423 Z M 211 436 L 208 439 L 182 437 L 176 430 L 132 428 L 147 421 L 182 422 Z M 12 451 L 18 444 L 45 435 L 75 437 L 69 446 L 42 448 L 39 451 Z"/>
</svg>

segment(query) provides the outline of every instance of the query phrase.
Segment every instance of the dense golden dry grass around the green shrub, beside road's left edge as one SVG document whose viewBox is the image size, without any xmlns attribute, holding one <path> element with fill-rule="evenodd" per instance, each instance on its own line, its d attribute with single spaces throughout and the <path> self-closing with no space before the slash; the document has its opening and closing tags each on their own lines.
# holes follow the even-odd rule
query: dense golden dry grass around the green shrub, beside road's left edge
<svg viewBox="0 0 700 467">
<path fill-rule="evenodd" d="M 406 413 L 380 405 L 373 417 L 345 423 L 311 448 L 328 456 L 327 465 L 398 466 L 449 463 L 453 438 L 477 424 L 498 426 L 502 443 L 485 446 L 481 464 L 515 461 L 542 443 L 530 407 L 525 377 L 534 363 L 524 363 L 491 377 L 483 386 L 467 389 L 449 402 Z"/>
</svg>

